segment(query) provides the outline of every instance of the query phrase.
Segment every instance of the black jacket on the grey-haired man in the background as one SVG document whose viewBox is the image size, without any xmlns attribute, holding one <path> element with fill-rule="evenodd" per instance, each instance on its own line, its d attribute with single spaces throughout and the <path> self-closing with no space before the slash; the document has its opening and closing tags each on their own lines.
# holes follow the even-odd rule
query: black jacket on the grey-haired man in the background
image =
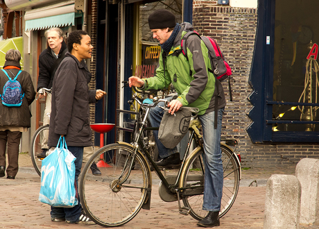
<svg viewBox="0 0 319 229">
<path fill-rule="evenodd" d="M 58 58 L 61 57 L 64 49 L 67 49 L 67 44 L 62 42 L 62 46 L 60 52 L 58 54 Z M 39 91 L 42 87 L 51 88 L 53 84 L 54 73 L 53 65 L 55 60 L 55 56 L 52 54 L 52 49 L 48 46 L 39 56 L 39 78 L 37 79 L 37 91 Z M 58 69 L 58 66 L 55 67 L 55 70 Z"/>
</svg>

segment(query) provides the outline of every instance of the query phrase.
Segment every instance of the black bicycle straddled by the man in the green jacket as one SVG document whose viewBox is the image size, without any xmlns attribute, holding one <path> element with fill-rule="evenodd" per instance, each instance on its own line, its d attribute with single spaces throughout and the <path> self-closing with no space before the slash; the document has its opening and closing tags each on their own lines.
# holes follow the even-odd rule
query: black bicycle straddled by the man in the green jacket
<svg viewBox="0 0 319 229">
<path fill-rule="evenodd" d="M 177 175 L 164 176 L 141 139 L 144 130 L 158 130 L 158 128 L 145 127 L 145 124 L 150 108 L 164 100 L 155 97 L 153 104 L 145 104 L 136 94 L 133 94 L 132 99 L 146 109 L 141 121 L 137 121 L 135 126 L 137 135 L 133 136 L 134 141 L 130 144 L 127 142 L 108 144 L 99 149 L 85 164 L 80 175 L 79 196 L 85 213 L 100 226 L 114 227 L 128 223 L 141 208 L 149 210 L 152 177 L 148 160 L 161 180 L 159 194 L 162 200 L 178 201 L 180 214 L 191 214 L 196 220 L 205 218 L 208 212 L 202 210 L 205 172 L 202 138 L 196 133 L 196 128 L 190 128 L 187 150 Z M 196 148 L 189 152 L 193 140 Z M 241 178 L 241 164 L 234 153 L 237 142 L 234 139 L 225 139 L 225 141 L 227 144 L 221 144 L 224 186 L 220 217 L 232 207 Z M 230 144 L 234 145 L 234 150 Z M 114 155 L 115 160 L 112 168 L 101 168 L 102 176 L 96 178 L 88 171 L 93 162 L 100 160 L 101 155 Z M 184 206 L 181 206 L 181 200 Z"/>
</svg>

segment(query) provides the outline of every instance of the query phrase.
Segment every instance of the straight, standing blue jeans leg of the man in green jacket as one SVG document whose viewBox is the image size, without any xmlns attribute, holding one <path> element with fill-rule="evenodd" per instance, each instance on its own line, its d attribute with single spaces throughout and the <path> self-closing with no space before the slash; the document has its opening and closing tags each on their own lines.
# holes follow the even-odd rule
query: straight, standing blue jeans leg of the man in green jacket
<svg viewBox="0 0 319 229">
<path fill-rule="evenodd" d="M 223 161 L 221 160 L 221 122 L 224 108 L 218 110 L 218 124 L 214 128 L 215 112 L 199 115 L 205 152 L 204 200 L 202 210 L 219 212 L 223 196 Z"/>
</svg>

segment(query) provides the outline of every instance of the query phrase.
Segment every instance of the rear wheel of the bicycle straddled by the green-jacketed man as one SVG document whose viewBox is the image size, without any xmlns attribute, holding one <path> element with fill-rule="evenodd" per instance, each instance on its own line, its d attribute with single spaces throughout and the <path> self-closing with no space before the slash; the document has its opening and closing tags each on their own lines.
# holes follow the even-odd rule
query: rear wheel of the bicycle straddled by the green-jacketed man
<svg viewBox="0 0 319 229">
<path fill-rule="evenodd" d="M 236 159 L 232 157 L 232 151 L 226 146 L 221 145 L 223 160 L 223 197 L 221 199 L 221 211 L 219 217 L 223 217 L 234 203 L 239 189 L 239 165 Z M 187 167 L 187 175 L 184 177 L 183 187 L 186 189 L 183 194 L 183 203 L 191 210 L 189 214 L 194 219 L 204 219 L 208 212 L 202 210 L 203 192 L 204 192 L 204 173 L 205 165 L 203 161 L 203 151 L 200 149 L 193 156 Z"/>
</svg>

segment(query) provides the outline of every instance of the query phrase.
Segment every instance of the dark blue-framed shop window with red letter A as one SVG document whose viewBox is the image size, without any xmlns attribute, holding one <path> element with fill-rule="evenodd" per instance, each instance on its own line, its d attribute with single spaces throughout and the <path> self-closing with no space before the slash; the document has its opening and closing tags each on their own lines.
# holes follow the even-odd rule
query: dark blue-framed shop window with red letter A
<svg viewBox="0 0 319 229">
<path fill-rule="evenodd" d="M 316 0 L 259 1 L 250 75 L 254 92 L 248 98 L 254 105 L 252 142 L 319 142 L 316 6 Z"/>
</svg>

